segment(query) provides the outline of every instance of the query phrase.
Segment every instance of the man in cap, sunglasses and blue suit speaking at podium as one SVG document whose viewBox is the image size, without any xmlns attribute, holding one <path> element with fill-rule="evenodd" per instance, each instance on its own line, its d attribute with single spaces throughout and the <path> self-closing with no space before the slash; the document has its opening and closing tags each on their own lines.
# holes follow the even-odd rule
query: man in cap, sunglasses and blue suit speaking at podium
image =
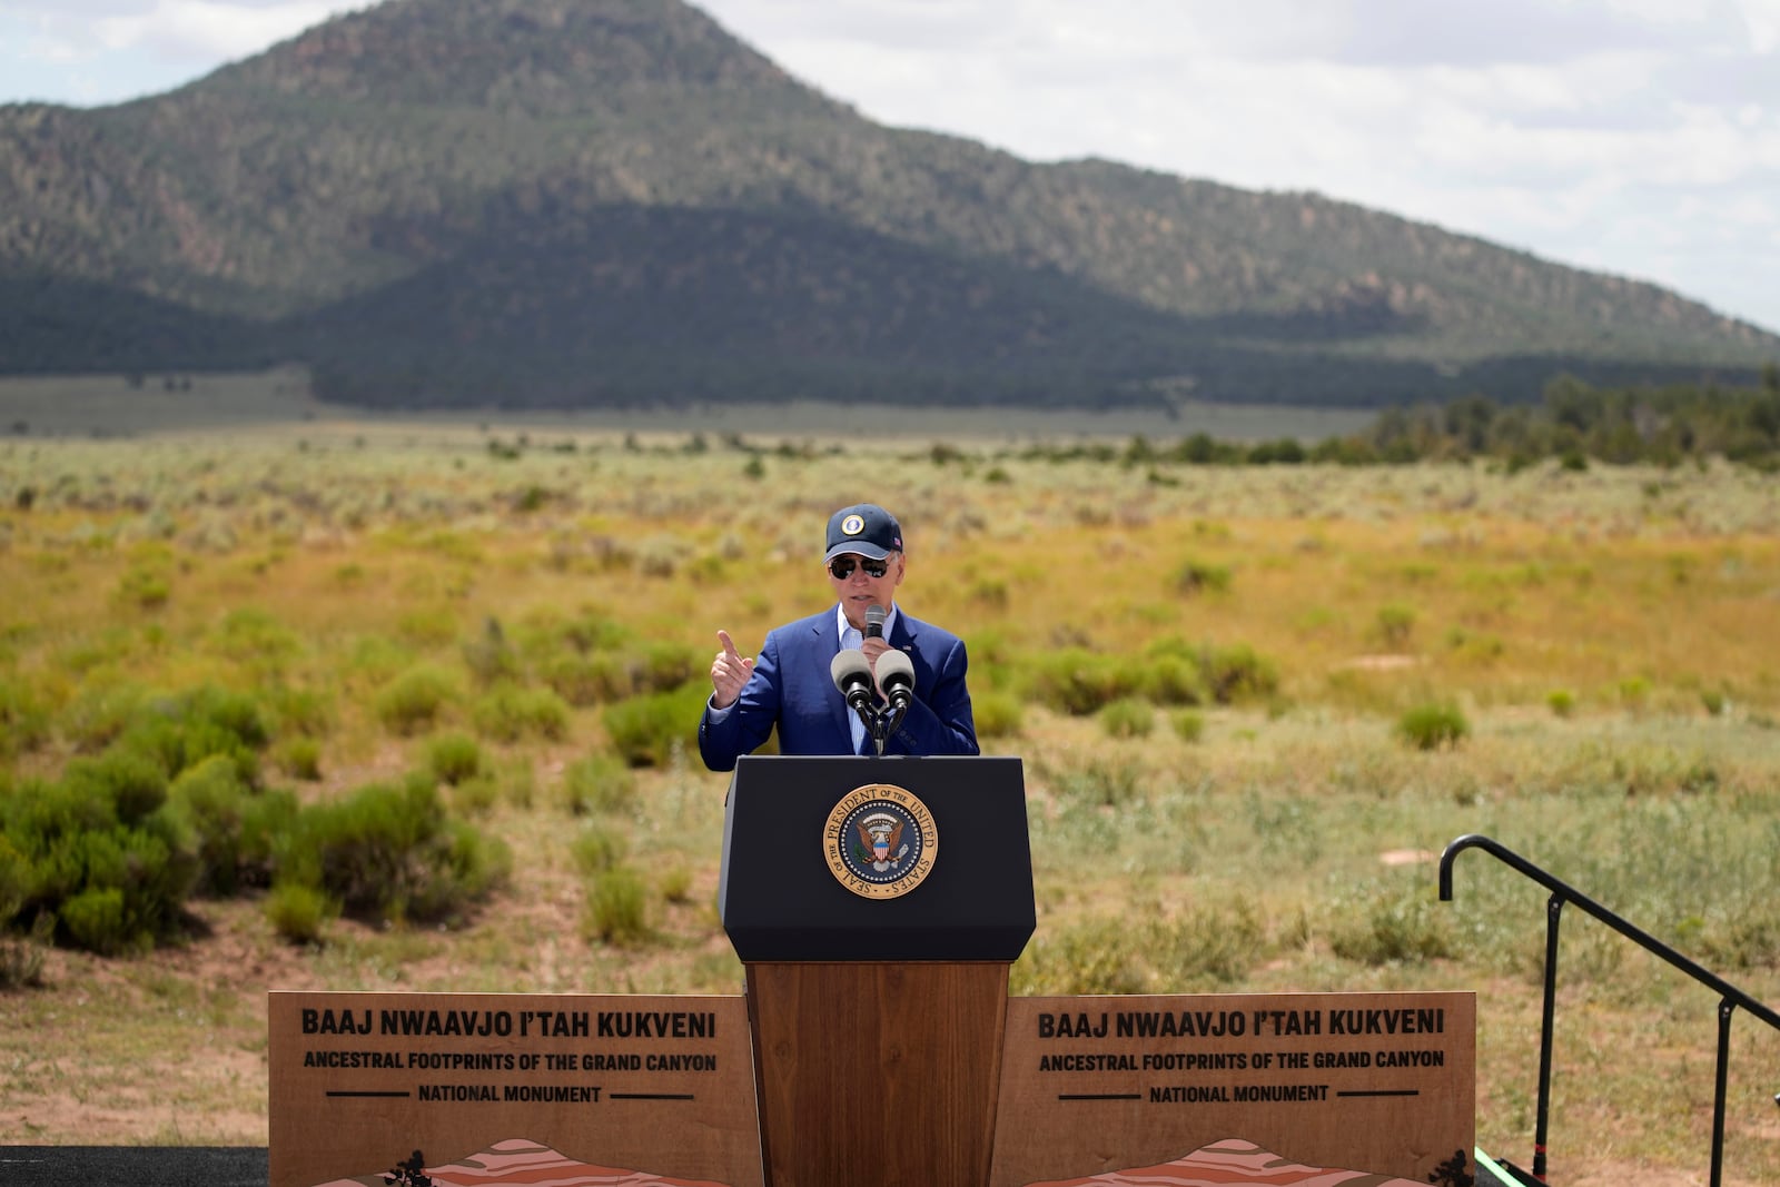
<svg viewBox="0 0 1780 1187">
<path fill-rule="evenodd" d="M 774 726 L 781 755 L 979 753 L 963 639 L 895 605 L 908 568 L 895 516 L 876 504 L 831 514 L 822 566 L 837 605 L 769 632 L 760 658 L 717 632 L 698 723 L 705 765 L 733 771 Z"/>
</svg>

